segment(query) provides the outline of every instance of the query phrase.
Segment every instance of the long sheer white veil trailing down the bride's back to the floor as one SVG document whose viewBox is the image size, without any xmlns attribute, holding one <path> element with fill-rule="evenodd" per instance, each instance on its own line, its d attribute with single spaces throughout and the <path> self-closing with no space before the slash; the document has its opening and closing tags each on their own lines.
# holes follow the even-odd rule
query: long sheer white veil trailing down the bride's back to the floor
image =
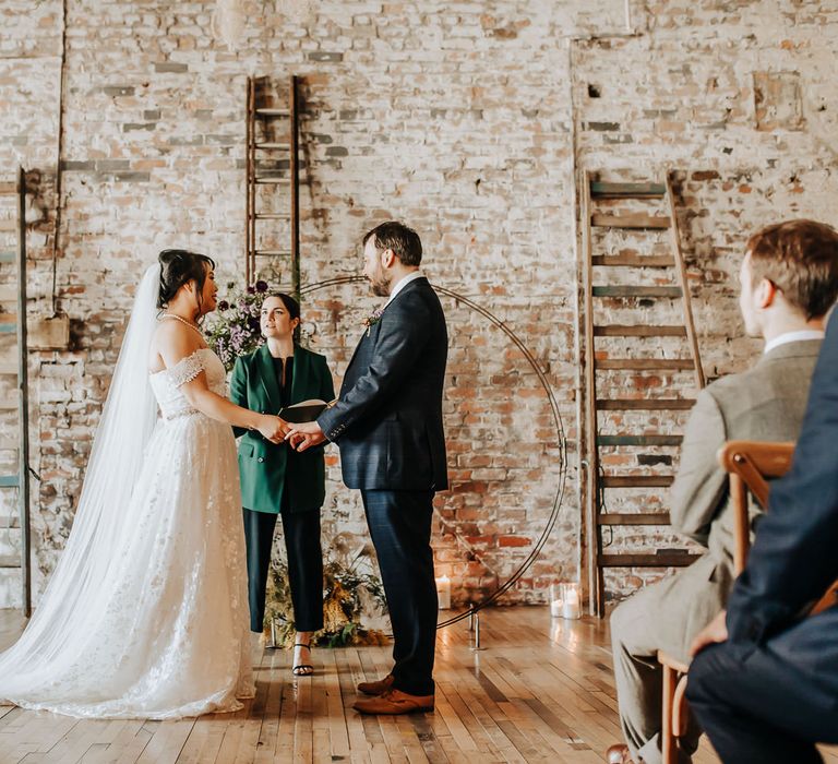
<svg viewBox="0 0 838 764">
<path fill-rule="evenodd" d="M 159 283 L 155 264 L 134 299 L 70 537 L 26 630 L 0 654 L 0 699 L 48 681 L 55 661 L 69 657 L 74 643 L 82 644 L 97 628 L 100 608 L 94 604 L 118 562 L 113 550 L 132 532 L 127 510 L 157 416 L 147 366 Z"/>
</svg>

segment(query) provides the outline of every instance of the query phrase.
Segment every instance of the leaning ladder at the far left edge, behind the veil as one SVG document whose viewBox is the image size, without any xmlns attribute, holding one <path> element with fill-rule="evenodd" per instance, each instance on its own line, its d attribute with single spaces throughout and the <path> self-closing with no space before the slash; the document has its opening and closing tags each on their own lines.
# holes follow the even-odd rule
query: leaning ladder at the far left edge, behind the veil
<svg viewBox="0 0 838 764">
<path fill-rule="evenodd" d="M 26 354 L 26 174 L 17 170 L 17 179 L 0 182 L 0 195 L 13 198 L 13 214 L 0 219 L 0 232 L 3 236 L 16 234 L 14 251 L 0 250 L 0 264 L 14 265 L 15 283 L 0 285 L 0 300 L 16 300 L 17 314 L 0 313 L 0 335 L 14 335 L 13 362 L 0 363 L 0 375 L 16 378 L 16 394 L 11 399 L 0 401 L 0 410 L 13 415 L 16 413 L 16 438 L 0 441 L 3 451 L 16 451 L 16 474 L 0 475 L 0 488 L 17 489 L 17 517 L 0 517 L 0 529 L 11 536 L 12 530 L 20 533 L 20 556 L 0 557 L 0 569 L 20 569 L 21 571 L 21 609 L 28 618 L 32 614 L 32 565 L 29 529 L 29 417 L 28 417 L 28 378 Z M 11 237 L 10 237 L 11 238 Z M 10 348 L 11 349 L 11 348 Z"/>
</svg>

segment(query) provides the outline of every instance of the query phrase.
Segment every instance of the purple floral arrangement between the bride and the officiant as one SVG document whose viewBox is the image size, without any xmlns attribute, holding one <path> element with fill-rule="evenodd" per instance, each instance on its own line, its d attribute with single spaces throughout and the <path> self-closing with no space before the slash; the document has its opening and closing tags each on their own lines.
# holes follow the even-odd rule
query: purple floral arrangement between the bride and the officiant
<svg viewBox="0 0 838 764">
<path fill-rule="evenodd" d="M 217 312 L 204 330 L 206 342 L 229 371 L 239 356 L 253 353 L 264 342 L 259 325 L 267 282 L 259 280 L 247 289 L 227 284 L 228 299 L 218 300 Z"/>
</svg>

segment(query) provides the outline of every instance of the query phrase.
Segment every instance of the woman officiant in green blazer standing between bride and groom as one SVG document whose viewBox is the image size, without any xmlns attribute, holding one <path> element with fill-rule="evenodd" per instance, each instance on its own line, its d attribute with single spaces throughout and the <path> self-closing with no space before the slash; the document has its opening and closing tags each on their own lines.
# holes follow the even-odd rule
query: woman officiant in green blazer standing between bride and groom
<svg viewBox="0 0 838 764">
<path fill-rule="evenodd" d="M 237 359 L 230 398 L 254 411 L 278 414 L 302 401 L 334 398 L 326 358 L 300 347 L 295 330 L 300 307 L 289 295 L 272 294 L 262 302 L 260 325 L 265 344 Z M 325 498 L 323 449 L 297 453 L 265 440 L 255 430 L 234 428 L 239 443 L 239 474 L 248 552 L 251 631 L 262 632 L 265 592 L 277 515 L 288 558 L 288 578 L 297 629 L 292 671 L 313 672 L 310 642 L 323 628 L 323 557 L 320 509 Z"/>
</svg>

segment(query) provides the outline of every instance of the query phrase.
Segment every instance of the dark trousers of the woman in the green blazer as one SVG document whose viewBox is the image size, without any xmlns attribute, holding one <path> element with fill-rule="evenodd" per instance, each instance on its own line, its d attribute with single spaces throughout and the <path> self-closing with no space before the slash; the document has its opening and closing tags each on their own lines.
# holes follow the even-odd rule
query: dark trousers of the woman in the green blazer
<svg viewBox="0 0 838 764">
<path fill-rule="evenodd" d="M 248 548 L 248 600 L 250 630 L 261 632 L 265 621 L 265 590 L 277 515 L 244 508 L 244 541 Z M 289 512 L 283 508 L 283 535 L 288 558 L 297 631 L 323 628 L 323 553 L 320 549 L 320 512 Z"/>
</svg>

